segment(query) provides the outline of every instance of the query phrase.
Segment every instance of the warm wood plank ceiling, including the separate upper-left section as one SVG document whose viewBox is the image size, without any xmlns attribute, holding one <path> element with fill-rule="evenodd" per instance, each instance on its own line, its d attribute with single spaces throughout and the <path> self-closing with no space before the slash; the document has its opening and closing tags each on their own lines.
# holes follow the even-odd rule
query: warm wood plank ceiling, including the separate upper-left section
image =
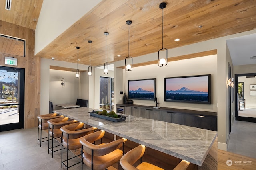
<svg viewBox="0 0 256 170">
<path fill-rule="evenodd" d="M 4 1 L 4 2 L 3 2 Z M 3 9 L 0 19 L 35 29 L 42 6 L 40 0 L 13 0 L 14 12 Z M 104 0 L 70 26 L 36 57 L 91 65 L 124 60 L 128 56 L 155 53 L 162 48 L 162 0 Z M 165 0 L 164 40 L 167 49 L 256 29 L 256 0 Z M 7 14 L 8 13 L 8 14 Z M 104 32 L 109 32 L 107 36 Z M 180 41 L 174 41 L 179 38 Z M 107 49 L 107 54 L 106 54 Z M 120 57 L 118 57 L 120 55 Z M 134 59 L 135 60 L 135 59 Z M 152 64 L 152 63 L 148 63 Z"/>
</svg>

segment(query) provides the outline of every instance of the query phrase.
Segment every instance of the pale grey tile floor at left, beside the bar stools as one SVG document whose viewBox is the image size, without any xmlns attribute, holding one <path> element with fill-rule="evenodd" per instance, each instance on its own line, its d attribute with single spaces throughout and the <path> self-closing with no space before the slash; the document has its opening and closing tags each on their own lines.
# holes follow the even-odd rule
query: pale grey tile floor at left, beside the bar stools
<svg viewBox="0 0 256 170">
<path fill-rule="evenodd" d="M 69 155 L 71 154 L 70 152 Z M 75 158 L 73 161 L 80 160 Z M 0 133 L 0 170 L 60 170 L 60 162 L 61 151 L 54 152 L 52 158 L 51 154 L 48 154 L 48 142 L 43 142 L 42 147 L 37 144 L 37 128 Z M 81 164 L 68 169 L 80 170 Z M 83 170 L 90 168 L 83 165 Z"/>
</svg>

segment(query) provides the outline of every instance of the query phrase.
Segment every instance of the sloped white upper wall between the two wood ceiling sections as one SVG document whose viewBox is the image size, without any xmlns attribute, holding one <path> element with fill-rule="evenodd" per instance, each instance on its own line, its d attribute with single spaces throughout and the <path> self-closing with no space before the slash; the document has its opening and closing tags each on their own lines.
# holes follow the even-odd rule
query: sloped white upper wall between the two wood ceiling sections
<svg viewBox="0 0 256 170">
<path fill-rule="evenodd" d="M 72 27 L 99 2 L 100 0 L 44 0 L 36 25 L 35 54 Z"/>
</svg>

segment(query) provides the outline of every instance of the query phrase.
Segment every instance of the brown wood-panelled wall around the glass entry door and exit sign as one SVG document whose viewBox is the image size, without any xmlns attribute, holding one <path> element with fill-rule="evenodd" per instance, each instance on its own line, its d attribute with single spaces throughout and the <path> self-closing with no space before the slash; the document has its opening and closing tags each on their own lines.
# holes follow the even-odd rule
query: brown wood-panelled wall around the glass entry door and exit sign
<svg viewBox="0 0 256 170">
<path fill-rule="evenodd" d="M 25 68 L 25 117 L 24 128 L 36 127 L 37 116 L 40 115 L 40 65 L 41 60 L 34 55 L 35 30 L 0 21 L 0 34 L 26 40 L 26 57 L 12 56 L 0 53 L 0 66 L 6 56 L 17 58 L 17 66 Z"/>
</svg>

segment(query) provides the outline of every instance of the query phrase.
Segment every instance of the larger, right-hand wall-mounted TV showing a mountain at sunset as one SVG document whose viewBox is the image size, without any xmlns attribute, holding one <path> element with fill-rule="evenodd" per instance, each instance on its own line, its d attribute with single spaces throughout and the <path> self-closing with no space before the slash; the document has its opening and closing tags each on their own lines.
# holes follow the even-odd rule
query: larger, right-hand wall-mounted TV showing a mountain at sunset
<svg viewBox="0 0 256 170">
<path fill-rule="evenodd" d="M 211 75 L 164 78 L 164 101 L 211 104 Z"/>
</svg>

